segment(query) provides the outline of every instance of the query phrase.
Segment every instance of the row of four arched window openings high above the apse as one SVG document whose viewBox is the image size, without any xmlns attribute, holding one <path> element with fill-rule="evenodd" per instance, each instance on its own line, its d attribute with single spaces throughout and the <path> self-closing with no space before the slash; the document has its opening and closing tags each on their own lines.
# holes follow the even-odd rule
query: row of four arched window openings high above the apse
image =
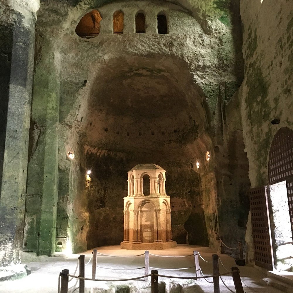
<svg viewBox="0 0 293 293">
<path fill-rule="evenodd" d="M 100 33 L 100 21 L 102 17 L 98 10 L 87 13 L 76 26 L 75 32 L 81 38 L 96 37 Z M 159 34 L 168 33 L 167 17 L 163 13 L 157 15 L 157 28 Z M 123 34 L 124 29 L 124 13 L 117 10 L 113 13 L 113 33 Z M 135 16 L 135 32 L 145 33 L 145 15 L 138 12 Z"/>
</svg>

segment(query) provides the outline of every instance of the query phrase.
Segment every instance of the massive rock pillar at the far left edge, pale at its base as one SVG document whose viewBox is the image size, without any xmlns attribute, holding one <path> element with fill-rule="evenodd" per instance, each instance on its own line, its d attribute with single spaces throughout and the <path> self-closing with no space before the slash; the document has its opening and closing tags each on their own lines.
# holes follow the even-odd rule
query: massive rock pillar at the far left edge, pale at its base
<svg viewBox="0 0 293 293">
<path fill-rule="evenodd" d="M 39 5 L 39 1 L 13 0 L 0 11 L 0 267 L 21 261 Z M 26 275 L 24 268 L 13 270 Z"/>
</svg>

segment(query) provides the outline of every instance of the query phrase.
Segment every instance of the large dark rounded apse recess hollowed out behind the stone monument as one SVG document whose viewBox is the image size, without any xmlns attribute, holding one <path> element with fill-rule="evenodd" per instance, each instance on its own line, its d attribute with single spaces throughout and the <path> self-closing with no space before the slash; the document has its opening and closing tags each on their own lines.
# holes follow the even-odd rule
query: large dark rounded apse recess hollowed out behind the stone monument
<svg viewBox="0 0 293 293">
<path fill-rule="evenodd" d="M 205 155 L 213 146 L 205 132 L 204 97 L 187 64 L 170 57 L 129 55 L 92 68 L 96 68 L 93 78 L 80 92 L 76 106 L 79 118 L 72 129 L 79 132 L 70 132 L 68 139 L 75 154 L 72 166 L 80 166 L 72 172 L 72 178 L 79 178 L 72 183 L 76 222 L 69 235 L 74 250 L 82 245 L 88 249 L 118 245 L 124 239 L 123 198 L 128 193 L 149 194 L 134 174 L 127 178 L 127 172 L 140 163 L 166 170 L 166 179 L 158 174 L 151 182 L 157 180 L 157 194 L 171 197 L 168 211 L 161 207 L 165 211 L 161 217 L 170 217 L 173 241 L 186 243 L 187 234 L 198 234 L 191 244 L 198 239 L 209 243 L 209 218 L 217 213 L 217 204 L 213 160 L 205 165 Z M 91 181 L 86 183 L 88 169 Z M 127 212 L 127 217 L 133 221 L 133 212 Z M 189 219 L 201 222 L 185 225 Z"/>
</svg>

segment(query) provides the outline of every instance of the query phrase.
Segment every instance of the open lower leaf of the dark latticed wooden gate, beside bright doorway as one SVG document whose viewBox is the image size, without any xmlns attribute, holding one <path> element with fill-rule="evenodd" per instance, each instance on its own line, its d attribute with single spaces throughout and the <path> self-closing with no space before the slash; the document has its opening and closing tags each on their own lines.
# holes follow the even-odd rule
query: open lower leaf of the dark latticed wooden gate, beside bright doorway
<svg viewBox="0 0 293 293">
<path fill-rule="evenodd" d="M 274 266 L 272 237 L 265 186 L 249 190 L 255 265 L 272 270 Z"/>
</svg>

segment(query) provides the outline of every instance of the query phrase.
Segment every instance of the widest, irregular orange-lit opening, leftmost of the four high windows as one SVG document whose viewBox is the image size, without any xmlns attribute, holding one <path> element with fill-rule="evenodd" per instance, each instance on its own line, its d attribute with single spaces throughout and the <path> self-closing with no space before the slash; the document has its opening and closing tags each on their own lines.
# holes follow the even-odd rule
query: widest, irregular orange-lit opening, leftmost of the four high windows
<svg viewBox="0 0 293 293">
<path fill-rule="evenodd" d="M 95 38 L 100 33 L 102 17 L 98 10 L 86 13 L 76 26 L 75 33 L 81 38 Z"/>
</svg>

